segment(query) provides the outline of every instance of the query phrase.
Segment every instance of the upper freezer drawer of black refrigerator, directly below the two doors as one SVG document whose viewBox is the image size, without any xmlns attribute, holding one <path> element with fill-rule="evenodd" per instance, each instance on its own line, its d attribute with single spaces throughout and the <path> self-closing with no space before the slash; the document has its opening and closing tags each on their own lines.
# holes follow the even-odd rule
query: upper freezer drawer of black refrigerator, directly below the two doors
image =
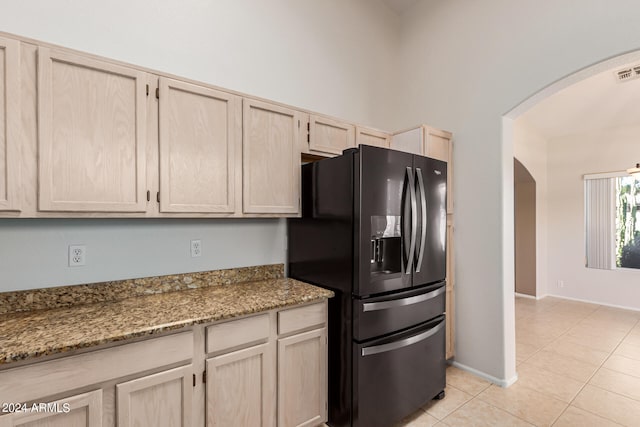
<svg viewBox="0 0 640 427">
<path fill-rule="evenodd" d="M 445 311 L 445 282 L 353 301 L 353 338 L 386 335 L 432 319 Z"/>
</svg>

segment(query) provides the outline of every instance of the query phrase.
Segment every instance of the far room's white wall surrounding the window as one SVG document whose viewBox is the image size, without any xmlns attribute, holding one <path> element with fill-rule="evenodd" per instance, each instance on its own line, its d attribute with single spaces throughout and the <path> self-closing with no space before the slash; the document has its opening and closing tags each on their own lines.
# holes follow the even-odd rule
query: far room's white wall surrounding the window
<svg viewBox="0 0 640 427">
<path fill-rule="evenodd" d="M 584 266 L 584 181 L 640 159 L 640 125 L 549 140 L 548 293 L 640 310 L 640 271 Z M 564 287 L 557 287 L 557 281 Z"/>
</svg>

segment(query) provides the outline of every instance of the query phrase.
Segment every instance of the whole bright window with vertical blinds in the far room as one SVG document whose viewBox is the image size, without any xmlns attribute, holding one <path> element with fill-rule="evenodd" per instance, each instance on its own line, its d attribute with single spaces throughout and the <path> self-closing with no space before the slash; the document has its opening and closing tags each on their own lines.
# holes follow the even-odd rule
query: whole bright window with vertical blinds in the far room
<svg viewBox="0 0 640 427">
<path fill-rule="evenodd" d="M 585 175 L 586 266 L 640 269 L 640 181 Z"/>
</svg>

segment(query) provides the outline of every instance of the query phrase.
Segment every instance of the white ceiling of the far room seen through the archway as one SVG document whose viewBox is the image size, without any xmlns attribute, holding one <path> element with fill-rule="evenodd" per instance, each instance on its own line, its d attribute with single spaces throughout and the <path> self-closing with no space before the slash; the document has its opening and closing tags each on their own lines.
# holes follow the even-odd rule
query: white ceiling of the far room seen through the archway
<svg viewBox="0 0 640 427">
<path fill-rule="evenodd" d="M 521 118 L 547 139 L 640 124 L 640 78 L 619 83 L 616 72 L 624 68 L 575 83 L 543 99 Z"/>
</svg>

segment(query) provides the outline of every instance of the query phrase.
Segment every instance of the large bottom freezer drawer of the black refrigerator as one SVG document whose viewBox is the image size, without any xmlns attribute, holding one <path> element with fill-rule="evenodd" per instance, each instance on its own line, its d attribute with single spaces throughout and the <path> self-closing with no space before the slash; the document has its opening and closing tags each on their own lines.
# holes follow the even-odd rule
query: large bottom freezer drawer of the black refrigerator
<svg viewBox="0 0 640 427">
<path fill-rule="evenodd" d="M 354 344 L 353 426 L 390 426 L 445 388 L 445 320 Z"/>
</svg>

